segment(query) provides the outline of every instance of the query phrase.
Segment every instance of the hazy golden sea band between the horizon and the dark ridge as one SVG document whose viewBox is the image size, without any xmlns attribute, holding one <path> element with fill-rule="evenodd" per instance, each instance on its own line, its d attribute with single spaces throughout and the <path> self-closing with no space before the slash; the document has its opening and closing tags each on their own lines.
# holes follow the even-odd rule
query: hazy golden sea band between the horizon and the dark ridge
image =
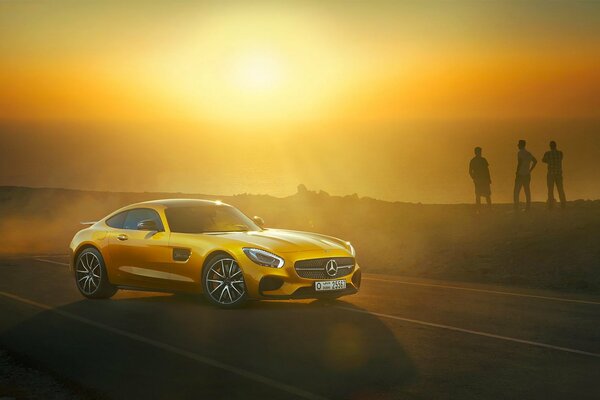
<svg viewBox="0 0 600 400">
<path fill-rule="evenodd" d="M 270 194 L 298 183 L 389 201 L 473 201 L 475 146 L 494 202 L 512 201 L 516 143 L 541 160 L 556 140 L 569 200 L 600 198 L 600 121 L 593 119 L 306 124 L 265 131 L 178 124 L 0 123 L 0 185 L 103 191 Z M 545 166 L 532 177 L 545 200 Z"/>
</svg>

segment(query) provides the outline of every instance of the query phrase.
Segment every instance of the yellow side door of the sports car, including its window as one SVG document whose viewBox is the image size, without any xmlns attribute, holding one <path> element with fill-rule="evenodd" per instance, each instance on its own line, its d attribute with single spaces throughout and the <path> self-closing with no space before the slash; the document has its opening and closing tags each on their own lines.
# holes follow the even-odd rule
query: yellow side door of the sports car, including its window
<svg viewBox="0 0 600 400">
<path fill-rule="evenodd" d="M 136 208 L 124 214 L 108 231 L 107 251 L 118 284 L 168 288 L 170 276 L 167 271 L 172 262 L 172 250 L 169 233 L 165 232 L 160 215 L 151 208 Z M 138 224 L 144 220 L 154 220 L 159 230 L 139 230 Z M 111 225 L 110 220 L 107 225 Z"/>
</svg>

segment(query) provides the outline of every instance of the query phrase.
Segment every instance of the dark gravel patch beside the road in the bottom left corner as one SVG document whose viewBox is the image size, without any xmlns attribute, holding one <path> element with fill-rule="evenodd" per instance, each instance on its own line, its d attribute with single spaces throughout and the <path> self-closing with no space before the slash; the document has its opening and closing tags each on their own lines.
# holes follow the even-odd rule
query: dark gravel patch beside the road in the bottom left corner
<svg viewBox="0 0 600 400">
<path fill-rule="evenodd" d="M 83 398 L 50 374 L 29 368 L 0 349 L 0 400 Z"/>
</svg>

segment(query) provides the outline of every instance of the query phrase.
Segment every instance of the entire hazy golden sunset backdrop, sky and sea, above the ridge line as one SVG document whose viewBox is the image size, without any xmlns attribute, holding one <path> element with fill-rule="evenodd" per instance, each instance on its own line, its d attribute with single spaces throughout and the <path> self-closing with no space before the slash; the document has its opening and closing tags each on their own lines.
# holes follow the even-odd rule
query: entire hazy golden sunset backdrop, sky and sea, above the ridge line
<svg viewBox="0 0 600 400">
<path fill-rule="evenodd" d="M 0 185 L 506 201 L 525 138 L 597 198 L 598 121 L 596 1 L 0 1 Z"/>
</svg>

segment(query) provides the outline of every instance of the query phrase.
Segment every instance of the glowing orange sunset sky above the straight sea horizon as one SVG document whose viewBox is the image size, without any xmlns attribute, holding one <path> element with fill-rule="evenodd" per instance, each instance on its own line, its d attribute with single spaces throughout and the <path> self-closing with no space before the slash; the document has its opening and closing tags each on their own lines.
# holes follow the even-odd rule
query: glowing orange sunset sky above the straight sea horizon
<svg viewBox="0 0 600 400">
<path fill-rule="evenodd" d="M 523 4 L 528 3 L 528 4 Z M 0 4 L 0 117 L 598 116 L 600 4 Z"/>
</svg>

